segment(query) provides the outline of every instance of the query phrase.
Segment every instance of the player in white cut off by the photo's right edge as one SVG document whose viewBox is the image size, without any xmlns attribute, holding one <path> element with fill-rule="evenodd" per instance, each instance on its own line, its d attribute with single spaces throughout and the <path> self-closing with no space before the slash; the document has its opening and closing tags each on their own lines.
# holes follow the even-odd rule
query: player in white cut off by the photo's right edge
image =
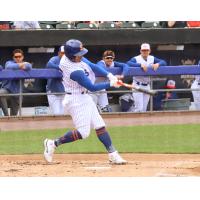
<svg viewBox="0 0 200 200">
<path fill-rule="evenodd" d="M 200 60 L 198 65 L 200 65 Z M 195 80 L 191 85 L 191 89 L 200 89 L 200 75 L 195 76 Z M 196 110 L 200 110 L 200 91 L 192 91 L 192 95 Z"/>
</svg>

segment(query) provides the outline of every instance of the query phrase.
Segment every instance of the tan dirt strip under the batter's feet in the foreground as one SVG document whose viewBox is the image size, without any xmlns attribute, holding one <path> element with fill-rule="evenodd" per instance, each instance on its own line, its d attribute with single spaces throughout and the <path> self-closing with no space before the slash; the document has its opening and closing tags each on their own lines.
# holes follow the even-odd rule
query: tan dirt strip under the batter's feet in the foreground
<svg viewBox="0 0 200 200">
<path fill-rule="evenodd" d="M 200 176 L 198 154 L 123 154 L 127 165 L 110 165 L 106 154 L 0 156 L 0 176 L 12 177 L 177 177 Z"/>
</svg>

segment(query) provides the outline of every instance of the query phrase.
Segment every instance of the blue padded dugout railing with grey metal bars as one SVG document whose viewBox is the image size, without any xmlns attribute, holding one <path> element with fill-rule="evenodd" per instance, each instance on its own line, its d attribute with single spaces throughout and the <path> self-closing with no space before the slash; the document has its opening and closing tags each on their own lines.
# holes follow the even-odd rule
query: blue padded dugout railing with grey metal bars
<svg viewBox="0 0 200 200">
<path fill-rule="evenodd" d="M 121 74 L 121 69 L 114 68 L 109 69 L 113 74 Z M 148 69 L 148 72 L 143 72 L 140 68 L 129 68 L 126 76 L 177 76 L 177 75 L 200 75 L 200 66 L 198 65 L 186 65 L 186 66 L 163 66 L 158 68 L 157 71 L 153 69 Z M 96 74 L 96 76 L 100 76 Z M 46 92 L 36 92 L 36 93 L 23 93 L 22 80 L 24 79 L 49 79 L 49 78 L 62 78 L 62 74 L 58 70 L 54 69 L 32 69 L 30 71 L 23 70 L 2 70 L 0 71 L 0 81 L 1 80 L 20 80 L 20 92 L 18 94 L 5 94 L 1 96 L 19 96 L 19 116 L 22 116 L 22 101 L 23 96 L 45 96 Z M 152 88 L 152 82 L 151 82 Z M 155 89 L 158 92 L 161 91 L 176 91 L 176 92 L 191 92 L 190 88 L 183 89 Z M 198 89 L 193 89 L 198 91 Z M 117 91 L 107 91 L 108 93 L 130 93 L 130 90 L 117 90 Z M 51 93 L 51 94 L 64 94 L 64 93 Z M 153 98 L 150 99 L 150 112 L 153 111 Z"/>
</svg>

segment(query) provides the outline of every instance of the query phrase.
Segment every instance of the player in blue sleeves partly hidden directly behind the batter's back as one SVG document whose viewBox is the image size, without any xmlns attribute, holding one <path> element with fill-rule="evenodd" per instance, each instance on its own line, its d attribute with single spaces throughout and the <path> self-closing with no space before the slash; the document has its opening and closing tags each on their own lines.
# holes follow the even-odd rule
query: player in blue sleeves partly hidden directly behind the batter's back
<svg viewBox="0 0 200 200">
<path fill-rule="evenodd" d="M 59 64 L 62 56 L 64 55 L 64 46 L 61 46 L 58 51 L 58 55 L 52 57 L 48 63 L 47 68 L 53 68 L 59 70 Z M 64 107 L 62 105 L 62 101 L 64 99 L 64 95 L 53 95 L 52 92 L 64 92 L 64 86 L 62 84 L 62 79 L 48 79 L 46 91 L 48 93 L 47 98 L 49 102 L 49 107 L 51 112 L 54 115 L 63 115 Z"/>
</svg>

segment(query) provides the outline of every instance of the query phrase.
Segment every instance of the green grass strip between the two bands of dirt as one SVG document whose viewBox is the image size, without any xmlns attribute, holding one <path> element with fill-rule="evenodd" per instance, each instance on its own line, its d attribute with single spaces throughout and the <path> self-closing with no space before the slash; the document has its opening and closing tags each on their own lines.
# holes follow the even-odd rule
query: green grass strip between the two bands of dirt
<svg viewBox="0 0 200 200">
<path fill-rule="evenodd" d="M 200 125 L 112 127 L 108 131 L 120 152 L 200 153 Z M 43 153 L 43 140 L 57 138 L 65 129 L 0 132 L 0 154 Z M 56 153 L 105 152 L 94 131 L 89 138 L 60 146 Z"/>
</svg>

